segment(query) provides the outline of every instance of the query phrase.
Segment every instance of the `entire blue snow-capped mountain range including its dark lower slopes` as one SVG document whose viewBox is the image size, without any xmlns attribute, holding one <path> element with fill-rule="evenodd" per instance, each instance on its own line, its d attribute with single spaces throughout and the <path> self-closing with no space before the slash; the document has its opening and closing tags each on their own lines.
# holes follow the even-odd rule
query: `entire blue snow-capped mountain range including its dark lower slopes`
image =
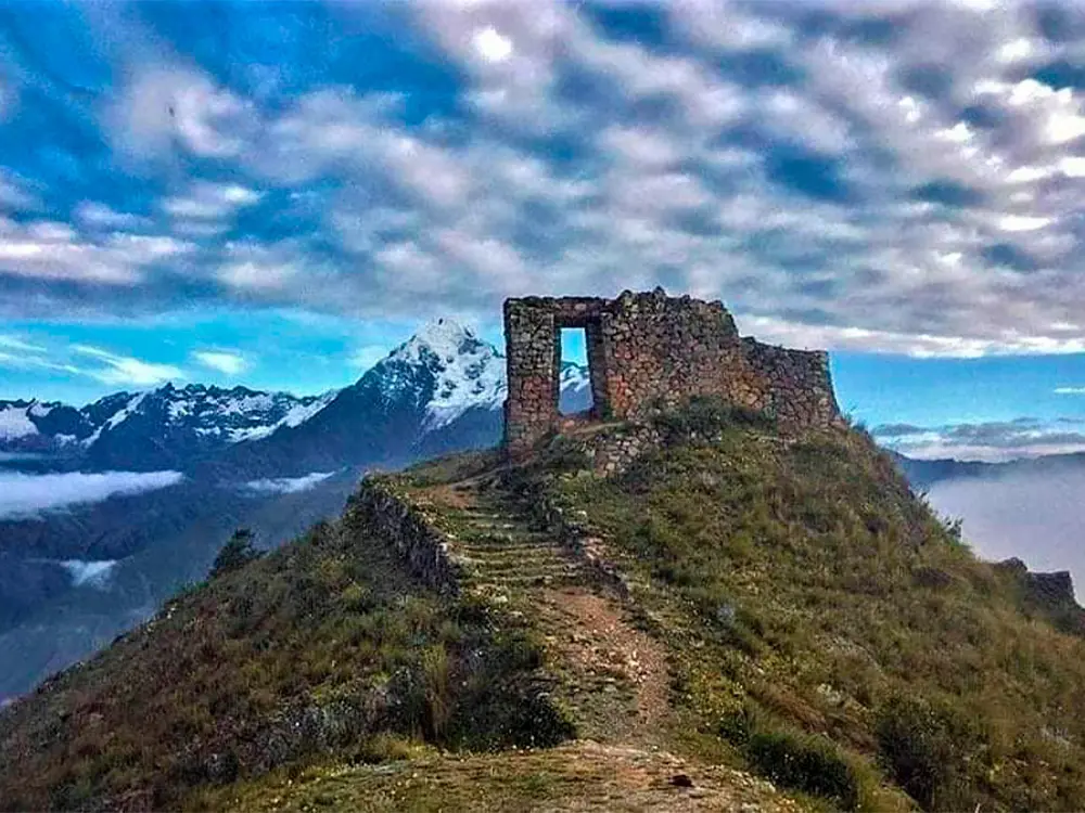
<svg viewBox="0 0 1085 813">
<path fill-rule="evenodd" d="M 170 469 L 179 478 L 50 511 L 0 509 L 0 699 L 203 579 L 233 529 L 251 527 L 276 546 L 336 514 L 367 470 L 494 446 L 506 392 L 497 348 L 438 319 L 320 396 L 167 384 L 81 408 L 0 401 L 0 476 L 8 465 L 20 477 Z M 565 412 L 590 404 L 585 367 L 563 365 L 561 398 Z"/>
</svg>

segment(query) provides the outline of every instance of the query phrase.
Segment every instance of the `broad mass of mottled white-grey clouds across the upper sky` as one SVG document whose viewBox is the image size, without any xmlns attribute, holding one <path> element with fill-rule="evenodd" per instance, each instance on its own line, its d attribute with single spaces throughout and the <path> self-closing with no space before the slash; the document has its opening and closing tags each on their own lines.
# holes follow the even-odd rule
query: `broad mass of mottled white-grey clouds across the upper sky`
<svg viewBox="0 0 1085 813">
<path fill-rule="evenodd" d="M 509 295 L 662 282 L 804 344 L 1083 347 L 1085 328 L 1054 325 L 1085 301 L 1085 157 L 1073 154 L 1085 99 L 1035 78 L 1076 64 L 1082 43 L 1046 39 L 1016 3 L 832 2 L 816 30 L 801 4 L 655 11 L 662 48 L 575 3 L 411 5 L 394 16 L 442 51 L 459 82 L 448 99 L 436 86 L 335 85 L 290 49 L 278 79 L 259 67 L 248 91 L 248 73 L 228 86 L 168 44 L 133 49 L 103 134 L 126 182 L 132 162 L 157 173 L 142 192 L 159 195 L 148 208 L 162 233 L 105 189 L 76 211 L 90 236 L 44 215 L 35 228 L 0 217 L 0 274 L 15 292 L 0 302 L 138 312 L 180 289 L 493 321 Z M 880 26 L 892 37 L 865 38 Z M 293 69 L 312 81 L 290 95 Z M 0 208 L 9 188 L 24 205 L 55 192 L 3 173 Z M 267 230 L 222 243 L 257 203 Z"/>
</svg>

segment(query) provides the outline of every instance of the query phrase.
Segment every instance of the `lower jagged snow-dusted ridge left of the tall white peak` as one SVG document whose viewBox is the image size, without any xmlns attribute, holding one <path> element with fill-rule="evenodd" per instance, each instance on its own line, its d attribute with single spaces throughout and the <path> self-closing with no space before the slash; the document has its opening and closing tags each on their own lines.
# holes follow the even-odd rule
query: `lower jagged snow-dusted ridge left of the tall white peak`
<svg viewBox="0 0 1085 813">
<path fill-rule="evenodd" d="M 281 426 L 297 426 L 334 397 L 335 391 L 297 397 L 166 384 L 144 392 L 116 392 L 80 409 L 0 401 L 0 451 L 60 454 L 91 467 L 171 467 L 267 437 Z"/>
</svg>

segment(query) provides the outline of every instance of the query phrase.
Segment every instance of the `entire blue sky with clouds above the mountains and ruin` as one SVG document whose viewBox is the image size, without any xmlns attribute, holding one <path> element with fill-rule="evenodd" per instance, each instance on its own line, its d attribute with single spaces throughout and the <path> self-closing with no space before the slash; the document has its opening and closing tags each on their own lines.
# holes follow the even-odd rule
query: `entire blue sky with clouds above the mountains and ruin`
<svg viewBox="0 0 1085 813">
<path fill-rule="evenodd" d="M 886 442 L 1085 449 L 1083 44 L 1070 3 L 8 3 L 0 397 L 320 391 L 663 284 L 833 351 Z"/>
</svg>

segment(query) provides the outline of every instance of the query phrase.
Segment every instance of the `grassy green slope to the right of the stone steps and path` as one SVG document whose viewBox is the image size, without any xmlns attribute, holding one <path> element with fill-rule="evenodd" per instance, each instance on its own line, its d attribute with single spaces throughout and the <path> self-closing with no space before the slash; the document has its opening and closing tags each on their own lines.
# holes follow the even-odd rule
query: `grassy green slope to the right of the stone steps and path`
<svg viewBox="0 0 1085 813">
<path fill-rule="evenodd" d="M 833 806 L 889 806 L 889 782 L 927 810 L 1085 809 L 1085 642 L 869 437 L 784 439 L 704 404 L 669 428 L 687 440 L 616 477 L 567 444 L 565 474 L 535 474 L 668 643 L 690 749 Z"/>
</svg>

